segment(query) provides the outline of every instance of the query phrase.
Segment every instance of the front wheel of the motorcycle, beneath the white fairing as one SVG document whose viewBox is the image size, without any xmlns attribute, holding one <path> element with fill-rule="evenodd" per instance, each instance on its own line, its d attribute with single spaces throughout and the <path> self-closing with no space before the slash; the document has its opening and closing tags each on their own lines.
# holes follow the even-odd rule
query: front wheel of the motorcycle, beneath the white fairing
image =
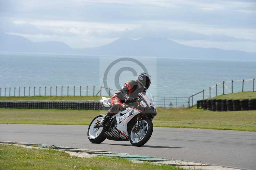
<svg viewBox="0 0 256 170">
<path fill-rule="evenodd" d="M 151 119 L 141 120 L 141 128 L 135 132 L 136 125 L 133 126 L 130 133 L 130 143 L 133 146 L 142 146 L 148 142 L 153 133 L 153 123 Z"/>
</svg>

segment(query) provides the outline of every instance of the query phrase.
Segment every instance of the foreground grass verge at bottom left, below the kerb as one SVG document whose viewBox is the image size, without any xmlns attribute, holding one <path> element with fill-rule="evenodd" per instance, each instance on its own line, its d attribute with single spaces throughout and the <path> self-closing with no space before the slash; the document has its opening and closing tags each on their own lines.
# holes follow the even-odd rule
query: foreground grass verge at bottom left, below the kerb
<svg viewBox="0 0 256 170">
<path fill-rule="evenodd" d="M 168 165 L 132 163 L 122 158 L 78 158 L 69 154 L 45 149 L 28 149 L 21 146 L 0 144 L 0 169 L 173 169 Z"/>
</svg>

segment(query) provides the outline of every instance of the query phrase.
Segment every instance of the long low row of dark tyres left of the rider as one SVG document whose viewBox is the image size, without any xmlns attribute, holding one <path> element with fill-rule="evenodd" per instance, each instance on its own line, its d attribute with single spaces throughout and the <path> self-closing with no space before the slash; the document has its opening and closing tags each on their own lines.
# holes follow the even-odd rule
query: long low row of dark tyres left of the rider
<svg viewBox="0 0 256 170">
<path fill-rule="evenodd" d="M 107 110 L 100 101 L 0 101 L 0 108 Z"/>
</svg>

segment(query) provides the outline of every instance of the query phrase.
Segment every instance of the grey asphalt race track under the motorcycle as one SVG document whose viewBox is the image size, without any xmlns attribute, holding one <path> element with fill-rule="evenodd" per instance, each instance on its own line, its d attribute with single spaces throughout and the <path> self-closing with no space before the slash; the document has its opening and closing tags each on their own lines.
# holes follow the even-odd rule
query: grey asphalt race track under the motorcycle
<svg viewBox="0 0 256 170">
<path fill-rule="evenodd" d="M 88 126 L 0 124 L 0 140 L 97 149 L 135 155 L 256 169 L 256 132 L 189 128 L 154 128 L 143 147 L 129 141 L 92 144 Z"/>
</svg>

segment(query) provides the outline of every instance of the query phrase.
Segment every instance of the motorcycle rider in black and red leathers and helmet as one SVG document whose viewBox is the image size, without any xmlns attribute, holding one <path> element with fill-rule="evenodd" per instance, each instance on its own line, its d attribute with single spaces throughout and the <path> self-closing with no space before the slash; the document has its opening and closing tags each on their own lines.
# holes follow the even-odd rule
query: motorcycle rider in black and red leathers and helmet
<svg viewBox="0 0 256 170">
<path fill-rule="evenodd" d="M 151 77 L 148 73 L 140 73 L 137 80 L 130 80 L 124 83 L 124 86 L 113 94 L 110 101 L 112 107 L 108 113 L 102 118 L 100 124 L 105 126 L 110 117 L 119 111 L 122 111 L 122 103 L 133 100 L 139 97 L 138 93 L 145 92 L 151 84 Z"/>
</svg>

